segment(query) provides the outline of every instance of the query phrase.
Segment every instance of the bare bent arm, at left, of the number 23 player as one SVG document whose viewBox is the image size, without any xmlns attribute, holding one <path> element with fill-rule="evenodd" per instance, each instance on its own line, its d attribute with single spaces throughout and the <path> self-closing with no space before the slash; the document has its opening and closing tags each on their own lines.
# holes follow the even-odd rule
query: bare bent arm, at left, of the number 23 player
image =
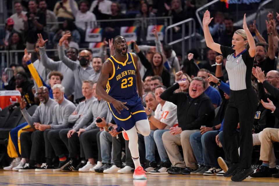
<svg viewBox="0 0 279 186">
<path fill-rule="evenodd" d="M 106 60 L 102 66 L 101 69 L 101 74 L 100 77 L 97 81 L 97 86 L 96 86 L 96 94 L 101 96 L 102 99 L 105 101 L 112 103 L 113 107 L 117 110 L 117 112 L 120 114 L 120 111 L 123 110 L 123 108 L 127 109 L 128 108 L 124 105 L 126 102 L 121 102 L 118 101 L 105 92 L 105 87 L 108 83 L 108 78 L 110 76 L 110 72 L 112 72 L 112 63 L 109 60 Z"/>
</svg>

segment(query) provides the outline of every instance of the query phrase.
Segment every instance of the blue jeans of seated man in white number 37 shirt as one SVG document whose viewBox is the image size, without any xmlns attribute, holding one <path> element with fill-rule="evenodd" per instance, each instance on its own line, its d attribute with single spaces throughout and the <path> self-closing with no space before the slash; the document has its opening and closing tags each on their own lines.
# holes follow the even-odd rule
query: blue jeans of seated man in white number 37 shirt
<svg viewBox="0 0 279 186">
<path fill-rule="evenodd" d="M 167 151 L 164 148 L 162 135 L 169 130 L 150 130 L 149 136 L 144 136 L 145 142 L 145 158 L 149 162 L 155 162 L 155 149 L 157 146 L 158 153 L 162 162 L 169 160 Z"/>
</svg>

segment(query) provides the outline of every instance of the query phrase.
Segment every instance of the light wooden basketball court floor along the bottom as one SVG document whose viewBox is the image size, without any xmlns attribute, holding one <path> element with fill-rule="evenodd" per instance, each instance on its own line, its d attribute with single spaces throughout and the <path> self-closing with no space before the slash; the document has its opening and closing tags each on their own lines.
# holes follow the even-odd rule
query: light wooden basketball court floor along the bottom
<svg viewBox="0 0 279 186">
<path fill-rule="evenodd" d="M 251 178 L 242 182 L 232 182 L 223 176 L 196 175 L 152 175 L 147 174 L 147 180 L 133 180 L 133 174 L 103 174 L 78 172 L 17 172 L 0 170 L 0 185 L 19 186 L 272 186 L 279 185 L 279 178 Z"/>
</svg>

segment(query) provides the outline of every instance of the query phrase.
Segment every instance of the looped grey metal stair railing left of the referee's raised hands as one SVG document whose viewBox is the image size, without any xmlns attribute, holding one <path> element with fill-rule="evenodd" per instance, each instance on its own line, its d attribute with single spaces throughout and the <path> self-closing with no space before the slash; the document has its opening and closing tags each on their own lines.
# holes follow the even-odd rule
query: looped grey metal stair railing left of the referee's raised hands
<svg viewBox="0 0 279 186">
<path fill-rule="evenodd" d="M 186 35 L 186 24 L 188 24 L 188 35 Z M 174 28 L 175 26 L 182 26 L 181 28 L 181 38 L 177 39 L 175 41 L 172 41 L 172 32 L 170 35 L 168 35 L 168 31 L 172 31 L 171 28 Z M 192 40 L 194 42 L 194 48 L 196 47 L 196 21 L 193 18 L 185 19 L 184 21 L 180 21 L 176 24 L 172 24 L 170 26 L 167 26 L 165 29 L 165 36 L 164 41 L 166 44 L 173 45 L 176 43 L 181 42 L 181 54 L 182 54 L 182 60 L 185 59 L 185 40 L 188 40 L 188 49 L 192 48 Z M 168 42 L 168 39 L 170 42 Z"/>
</svg>

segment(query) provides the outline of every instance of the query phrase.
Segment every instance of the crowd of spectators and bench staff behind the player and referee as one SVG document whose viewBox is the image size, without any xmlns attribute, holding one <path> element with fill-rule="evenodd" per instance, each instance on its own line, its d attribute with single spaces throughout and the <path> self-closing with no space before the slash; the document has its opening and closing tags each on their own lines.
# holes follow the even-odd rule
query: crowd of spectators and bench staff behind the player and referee
<svg viewBox="0 0 279 186">
<path fill-rule="evenodd" d="M 152 19 L 144 24 L 103 22 L 103 37 L 108 42 L 103 40 L 101 56 L 94 56 L 91 49 L 79 51 L 79 48 L 84 43 L 85 29 L 98 26 L 96 20 L 171 15 L 176 23 L 193 17 L 199 6 L 194 1 L 159 2 L 95 0 L 90 4 L 85 0 L 79 3 L 62 0 L 51 11 L 47 9 L 47 1 L 30 0 L 28 12 L 23 11 L 20 2 L 14 3 L 16 13 L 0 30 L 0 47 L 25 49 L 25 53 L 17 56 L 22 65 L 10 66 L 12 77 L 2 74 L 1 88 L 21 92 L 23 97 L 19 103 L 9 107 L 19 106 L 26 119 L 20 126 L 29 125 L 35 131 L 17 136 L 21 153 L 12 157 L 15 159 L 5 170 L 132 173 L 128 143 L 121 132 L 116 131 L 107 103 L 96 94 L 96 81 L 105 59 L 115 53 L 111 38 L 118 35 L 121 26 L 144 26 L 138 30 L 146 35 L 147 27 L 157 23 Z M 123 5 L 127 5 L 126 13 L 121 11 Z M 279 14 L 269 12 L 267 18 L 267 40 L 255 22 L 249 24 L 257 43 L 251 83 L 259 98 L 251 133 L 254 145 L 264 144 L 260 150 L 262 168 L 252 176 L 275 174 L 278 178 L 270 149 L 273 150 L 273 142 L 279 142 L 279 37 L 276 30 Z M 57 21 L 63 24 L 47 24 Z M 240 29 L 233 23 L 232 17 L 215 12 L 209 27 L 213 40 L 231 46 L 234 32 Z M 142 102 L 151 128 L 149 136 L 138 134 L 140 162 L 151 174 L 222 176 L 227 170 L 217 163 L 217 158 L 223 151 L 220 147 L 225 145 L 223 118 L 230 99 L 226 58 L 206 49 L 205 60 L 200 60 L 200 52 L 190 49 L 182 61 L 181 54 L 160 42 L 156 29 L 152 32 L 155 46 L 143 45 L 144 37 L 132 41 L 132 52 L 139 57 Z M 174 32 L 181 32 L 181 28 L 174 27 Z M 48 56 L 46 49 L 50 45 L 57 49 L 58 59 Z M 39 105 L 33 116 L 26 110 L 32 105 Z M 10 135 L 18 130 L 20 127 L 12 129 Z M 182 153 L 178 146 L 182 147 Z M 126 148 L 124 159 L 121 159 L 121 147 Z M 156 158 L 156 149 L 159 158 Z M 228 154 L 224 154 L 223 159 L 229 162 Z M 59 159 L 59 164 L 53 161 L 55 159 Z"/>
</svg>

